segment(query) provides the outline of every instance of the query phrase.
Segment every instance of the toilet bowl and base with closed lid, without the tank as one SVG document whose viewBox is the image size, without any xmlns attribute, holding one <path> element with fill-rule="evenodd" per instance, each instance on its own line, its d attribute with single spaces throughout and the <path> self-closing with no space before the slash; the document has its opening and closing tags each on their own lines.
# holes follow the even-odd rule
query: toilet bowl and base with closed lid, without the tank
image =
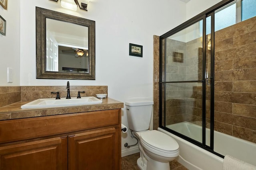
<svg viewBox="0 0 256 170">
<path fill-rule="evenodd" d="M 139 140 L 137 165 L 141 170 L 170 170 L 169 162 L 179 155 L 179 145 L 172 137 L 156 130 L 134 132 L 134 135 Z"/>
</svg>

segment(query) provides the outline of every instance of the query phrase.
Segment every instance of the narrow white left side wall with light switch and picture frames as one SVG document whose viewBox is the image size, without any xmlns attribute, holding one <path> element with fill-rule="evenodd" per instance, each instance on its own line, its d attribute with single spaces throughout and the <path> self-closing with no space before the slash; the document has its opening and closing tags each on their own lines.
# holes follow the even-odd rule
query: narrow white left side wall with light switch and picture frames
<svg viewBox="0 0 256 170">
<path fill-rule="evenodd" d="M 20 86 L 20 1 L 8 0 L 7 10 L 0 6 L 6 20 L 6 35 L 0 34 L 0 86 Z M 7 68 L 13 69 L 13 82 L 7 82 Z"/>
</svg>

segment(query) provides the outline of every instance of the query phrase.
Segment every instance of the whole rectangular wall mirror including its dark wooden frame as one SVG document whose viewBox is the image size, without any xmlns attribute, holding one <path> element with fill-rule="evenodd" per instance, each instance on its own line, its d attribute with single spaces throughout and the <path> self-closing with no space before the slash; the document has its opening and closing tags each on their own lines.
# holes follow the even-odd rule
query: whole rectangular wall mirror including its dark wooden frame
<svg viewBox="0 0 256 170">
<path fill-rule="evenodd" d="M 36 78 L 95 80 L 95 21 L 36 7 Z"/>
</svg>

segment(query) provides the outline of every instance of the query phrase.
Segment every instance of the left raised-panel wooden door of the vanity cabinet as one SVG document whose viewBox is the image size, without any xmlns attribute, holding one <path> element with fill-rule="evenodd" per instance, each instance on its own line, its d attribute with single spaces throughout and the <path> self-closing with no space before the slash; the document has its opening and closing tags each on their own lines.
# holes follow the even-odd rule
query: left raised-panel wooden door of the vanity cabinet
<svg viewBox="0 0 256 170">
<path fill-rule="evenodd" d="M 0 147 L 0 170 L 66 170 L 67 137 Z"/>
</svg>

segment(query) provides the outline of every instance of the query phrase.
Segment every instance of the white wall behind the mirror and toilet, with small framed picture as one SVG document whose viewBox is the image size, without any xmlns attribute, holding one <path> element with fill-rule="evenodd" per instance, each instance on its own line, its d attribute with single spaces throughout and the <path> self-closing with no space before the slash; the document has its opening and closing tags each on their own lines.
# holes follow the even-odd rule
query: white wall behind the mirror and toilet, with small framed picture
<svg viewBox="0 0 256 170">
<path fill-rule="evenodd" d="M 186 20 L 186 4 L 178 0 L 91 0 L 88 12 L 73 12 L 50 0 L 20 4 L 20 85 L 64 86 L 67 80 L 36 79 L 35 6 L 96 21 L 96 80 L 69 80 L 75 85 L 107 85 L 108 97 L 125 102 L 132 97 L 153 100 L 153 35 L 162 35 Z M 143 45 L 143 57 L 129 56 L 129 43 Z M 10 45 L 9 45 L 10 46 Z M 72 89 L 71 89 L 72 90 Z M 128 126 L 122 109 L 122 123 Z M 124 143 L 134 144 L 130 131 Z"/>
</svg>

